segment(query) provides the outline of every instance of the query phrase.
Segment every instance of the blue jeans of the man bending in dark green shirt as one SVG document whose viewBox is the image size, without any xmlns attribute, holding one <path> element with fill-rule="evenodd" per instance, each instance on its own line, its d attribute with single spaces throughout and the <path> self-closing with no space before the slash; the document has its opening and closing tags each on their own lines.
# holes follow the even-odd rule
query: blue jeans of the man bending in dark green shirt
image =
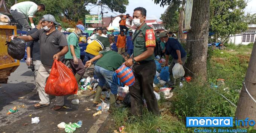
<svg viewBox="0 0 256 133">
<path fill-rule="evenodd" d="M 112 94 L 117 94 L 118 86 L 113 82 L 113 71 L 106 70 L 100 66 L 94 66 L 94 72 L 99 78 L 99 86 L 103 87 L 106 82 L 110 86 Z"/>
</svg>

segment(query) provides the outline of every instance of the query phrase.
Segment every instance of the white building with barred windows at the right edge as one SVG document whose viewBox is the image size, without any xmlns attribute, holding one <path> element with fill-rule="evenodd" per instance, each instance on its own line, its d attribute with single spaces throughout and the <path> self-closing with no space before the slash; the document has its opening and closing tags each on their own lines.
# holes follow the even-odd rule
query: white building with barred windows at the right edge
<svg viewBox="0 0 256 133">
<path fill-rule="evenodd" d="M 256 24 L 248 24 L 248 30 L 241 33 L 244 35 L 230 37 L 231 42 L 234 43 L 235 45 L 239 45 L 239 44 L 248 45 L 251 42 L 253 43 L 256 36 L 254 34 L 255 32 L 256 32 Z M 250 33 L 253 33 L 253 34 L 250 34 Z M 239 35 L 239 34 L 236 34 L 236 35 Z"/>
</svg>

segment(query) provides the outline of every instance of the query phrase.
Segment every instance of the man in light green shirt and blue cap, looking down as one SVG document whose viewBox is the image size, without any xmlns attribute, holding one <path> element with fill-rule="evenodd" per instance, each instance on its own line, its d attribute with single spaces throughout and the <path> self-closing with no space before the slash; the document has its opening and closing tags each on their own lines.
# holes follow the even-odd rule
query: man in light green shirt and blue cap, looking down
<svg viewBox="0 0 256 133">
<path fill-rule="evenodd" d="M 67 37 L 67 43 L 69 44 L 69 52 L 65 55 L 65 59 L 69 59 L 71 68 L 75 73 L 76 81 L 79 82 L 85 73 L 85 67 L 80 59 L 80 47 L 78 44 L 78 38 L 84 32 L 84 26 L 82 24 L 76 25 L 76 30 L 69 34 Z"/>
</svg>

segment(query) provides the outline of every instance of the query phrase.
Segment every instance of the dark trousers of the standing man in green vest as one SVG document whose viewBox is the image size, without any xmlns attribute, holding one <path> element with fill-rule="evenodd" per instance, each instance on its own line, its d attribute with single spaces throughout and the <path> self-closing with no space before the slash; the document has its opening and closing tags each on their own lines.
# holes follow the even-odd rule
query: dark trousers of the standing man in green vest
<svg viewBox="0 0 256 133">
<path fill-rule="evenodd" d="M 157 99 L 155 98 L 153 81 L 156 72 L 155 62 L 146 64 L 134 64 L 133 74 L 135 83 L 129 87 L 131 95 L 131 112 L 134 116 L 142 115 L 143 96 L 146 100 L 148 111 L 159 115 Z"/>
</svg>

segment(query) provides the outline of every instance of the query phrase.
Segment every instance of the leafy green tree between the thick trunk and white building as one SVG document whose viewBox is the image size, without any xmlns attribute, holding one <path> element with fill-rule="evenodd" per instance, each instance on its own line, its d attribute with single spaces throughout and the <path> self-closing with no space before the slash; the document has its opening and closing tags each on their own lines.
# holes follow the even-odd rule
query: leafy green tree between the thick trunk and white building
<svg viewBox="0 0 256 133">
<path fill-rule="evenodd" d="M 210 0 L 210 28 L 215 33 L 215 39 L 227 40 L 230 34 L 247 30 L 247 23 L 242 21 L 244 0 Z"/>
</svg>

